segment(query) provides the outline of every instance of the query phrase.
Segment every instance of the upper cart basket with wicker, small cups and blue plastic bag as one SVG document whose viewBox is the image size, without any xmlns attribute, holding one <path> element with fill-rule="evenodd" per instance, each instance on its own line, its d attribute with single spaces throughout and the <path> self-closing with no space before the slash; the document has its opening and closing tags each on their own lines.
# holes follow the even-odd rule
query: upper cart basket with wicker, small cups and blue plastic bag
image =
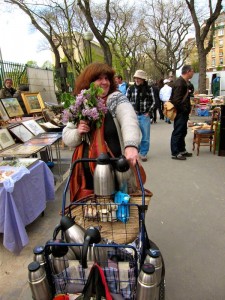
<svg viewBox="0 0 225 300">
<path fill-rule="evenodd" d="M 87 229 L 99 227 L 101 236 L 110 242 L 128 244 L 133 242 L 140 232 L 140 212 L 147 210 L 152 193 L 145 189 L 144 206 L 142 193 L 130 194 L 129 204 L 115 204 L 110 197 L 96 197 L 94 194 L 79 202 L 71 203 L 65 215 L 75 217 L 78 225 Z M 121 208 L 121 210 L 120 210 Z M 124 216 L 124 210 L 128 214 Z M 115 217 L 115 210 L 120 210 Z M 107 212 L 107 216 L 104 212 Z M 129 216 L 128 216 L 129 215 Z M 121 221 L 122 220 L 122 221 Z"/>
</svg>

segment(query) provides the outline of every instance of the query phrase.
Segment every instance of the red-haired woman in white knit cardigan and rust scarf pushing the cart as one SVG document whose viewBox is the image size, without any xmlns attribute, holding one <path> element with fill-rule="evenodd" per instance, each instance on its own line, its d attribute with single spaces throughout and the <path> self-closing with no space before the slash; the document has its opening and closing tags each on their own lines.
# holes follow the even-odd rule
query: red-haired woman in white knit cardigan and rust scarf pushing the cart
<svg viewBox="0 0 225 300">
<path fill-rule="evenodd" d="M 131 167 L 136 165 L 141 132 L 132 105 L 125 95 L 117 91 L 114 76 L 114 70 L 109 65 L 95 62 L 88 65 L 76 79 L 75 95 L 88 89 L 94 82 L 103 89 L 101 98 L 108 110 L 100 128 L 91 128 L 88 122 L 81 120 L 77 124 L 69 122 L 63 129 L 63 142 L 75 147 L 72 161 L 82 157 L 98 157 L 101 152 L 107 152 L 114 157 L 124 154 Z M 83 140 L 83 135 L 87 133 L 90 143 Z M 71 202 L 93 193 L 92 174 L 88 163 L 84 164 L 82 170 L 75 170 L 70 185 Z M 132 176 L 129 180 L 132 180 Z M 130 192 L 132 189 L 135 190 L 135 187 L 130 187 Z"/>
</svg>

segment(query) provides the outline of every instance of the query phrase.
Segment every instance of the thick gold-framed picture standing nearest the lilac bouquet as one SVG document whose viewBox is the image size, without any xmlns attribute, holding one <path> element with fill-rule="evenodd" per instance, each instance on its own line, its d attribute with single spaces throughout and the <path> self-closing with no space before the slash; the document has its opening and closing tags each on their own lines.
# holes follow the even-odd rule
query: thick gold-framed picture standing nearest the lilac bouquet
<svg viewBox="0 0 225 300">
<path fill-rule="evenodd" d="M 44 101 L 40 93 L 21 93 L 27 113 L 41 112 L 45 108 Z"/>
</svg>

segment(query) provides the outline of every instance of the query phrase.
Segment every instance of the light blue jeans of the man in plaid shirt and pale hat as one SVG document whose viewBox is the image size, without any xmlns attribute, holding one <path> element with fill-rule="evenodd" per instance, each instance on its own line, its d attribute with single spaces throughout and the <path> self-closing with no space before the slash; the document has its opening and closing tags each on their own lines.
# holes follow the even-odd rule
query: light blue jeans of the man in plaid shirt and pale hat
<svg viewBox="0 0 225 300">
<path fill-rule="evenodd" d="M 139 153 L 142 156 L 147 155 L 150 148 L 150 126 L 151 119 L 147 115 L 140 115 L 138 117 L 139 126 L 142 133 L 141 143 L 139 145 Z"/>
</svg>

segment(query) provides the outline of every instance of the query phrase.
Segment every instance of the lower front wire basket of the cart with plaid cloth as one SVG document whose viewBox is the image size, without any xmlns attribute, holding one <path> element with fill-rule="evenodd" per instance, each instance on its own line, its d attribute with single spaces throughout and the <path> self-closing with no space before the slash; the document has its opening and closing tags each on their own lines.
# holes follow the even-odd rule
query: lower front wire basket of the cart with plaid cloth
<svg viewBox="0 0 225 300">
<path fill-rule="evenodd" d="M 67 245 L 69 245 L 69 248 L 80 247 L 74 246 L 76 244 Z M 100 259 L 96 259 L 97 262 L 88 261 L 88 267 L 85 269 L 82 268 L 79 260 L 71 259 L 70 256 L 54 257 L 50 250 L 52 246 L 65 247 L 65 244 L 60 245 L 59 243 L 52 242 L 47 243 L 45 246 L 48 280 L 52 287 L 53 295 L 82 295 L 87 282 L 93 276 L 90 274 L 92 268 L 98 266 L 104 272 L 104 278 L 111 295 L 120 295 L 123 299 L 135 299 L 138 254 L 134 246 L 113 244 L 107 244 L 107 246 L 101 244 L 97 244 L 94 247 L 89 246 L 89 249 L 94 248 L 96 253 L 101 251 L 101 254 L 98 256 Z M 102 251 L 104 251 L 104 254 L 102 254 Z M 60 269 L 58 266 L 60 266 Z M 92 279 L 96 284 L 96 274 Z"/>
</svg>

